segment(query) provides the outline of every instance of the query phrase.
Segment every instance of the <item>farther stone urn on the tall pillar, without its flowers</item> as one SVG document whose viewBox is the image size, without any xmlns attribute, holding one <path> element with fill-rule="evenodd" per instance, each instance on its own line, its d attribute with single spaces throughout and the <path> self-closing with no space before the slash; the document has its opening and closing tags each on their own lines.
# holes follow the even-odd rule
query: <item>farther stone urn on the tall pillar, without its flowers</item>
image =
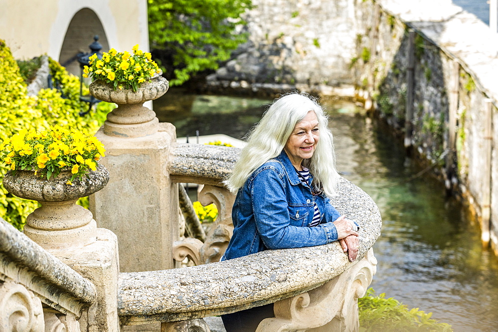
<svg viewBox="0 0 498 332">
<path fill-rule="evenodd" d="M 90 84 L 90 93 L 94 97 L 118 104 L 118 107 L 107 115 L 104 124 L 106 135 L 134 138 L 157 132 L 159 120 L 155 112 L 142 104 L 159 98 L 168 90 L 169 83 L 161 74 L 141 83 L 136 92 L 131 88 L 114 90 L 111 84 L 100 80 Z"/>
</svg>

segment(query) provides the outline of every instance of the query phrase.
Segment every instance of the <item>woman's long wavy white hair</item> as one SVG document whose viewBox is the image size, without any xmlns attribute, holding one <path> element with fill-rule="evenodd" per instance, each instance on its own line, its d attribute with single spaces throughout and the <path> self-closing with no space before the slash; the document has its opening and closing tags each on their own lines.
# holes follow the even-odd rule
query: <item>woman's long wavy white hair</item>
<svg viewBox="0 0 498 332">
<path fill-rule="evenodd" d="M 313 182 L 329 196 L 337 194 L 339 174 L 335 167 L 332 133 L 328 128 L 328 116 L 316 99 L 307 93 L 292 92 L 273 101 L 263 117 L 246 135 L 247 145 L 227 180 L 228 189 L 236 193 L 250 174 L 271 158 L 282 152 L 296 124 L 309 111 L 314 111 L 319 123 L 320 139 L 313 157 L 303 161 L 314 176 Z M 315 182 L 316 181 L 316 182 Z"/>
</svg>

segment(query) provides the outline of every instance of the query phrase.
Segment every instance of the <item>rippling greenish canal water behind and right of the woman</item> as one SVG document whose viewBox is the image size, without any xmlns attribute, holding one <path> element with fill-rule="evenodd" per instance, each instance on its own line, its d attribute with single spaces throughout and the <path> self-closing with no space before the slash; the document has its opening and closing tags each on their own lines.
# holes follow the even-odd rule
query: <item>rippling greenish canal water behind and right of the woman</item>
<svg viewBox="0 0 498 332">
<path fill-rule="evenodd" d="M 177 127 L 178 137 L 194 137 L 198 130 L 241 138 L 269 103 L 171 89 L 154 101 L 154 111 Z M 443 185 L 428 172 L 420 174 L 389 130 L 361 108 L 347 102 L 324 106 L 339 171 L 373 198 L 382 215 L 373 247 L 375 292 L 432 312 L 455 331 L 498 331 L 498 260 L 482 249 L 466 209 L 445 198 Z"/>
</svg>

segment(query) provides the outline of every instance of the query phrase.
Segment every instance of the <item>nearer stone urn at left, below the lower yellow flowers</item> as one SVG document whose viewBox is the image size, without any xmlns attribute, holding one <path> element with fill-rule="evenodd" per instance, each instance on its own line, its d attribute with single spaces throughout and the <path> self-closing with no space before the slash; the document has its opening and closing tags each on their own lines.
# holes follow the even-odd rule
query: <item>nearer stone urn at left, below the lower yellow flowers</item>
<svg viewBox="0 0 498 332">
<path fill-rule="evenodd" d="M 99 165 L 87 175 L 70 185 L 70 170 L 61 171 L 50 180 L 40 178 L 34 171 L 9 170 L 3 177 L 5 189 L 41 204 L 26 218 L 24 234 L 44 249 L 83 247 L 95 242 L 97 224 L 92 213 L 75 203 L 102 189 L 109 181 L 109 171 Z"/>
</svg>

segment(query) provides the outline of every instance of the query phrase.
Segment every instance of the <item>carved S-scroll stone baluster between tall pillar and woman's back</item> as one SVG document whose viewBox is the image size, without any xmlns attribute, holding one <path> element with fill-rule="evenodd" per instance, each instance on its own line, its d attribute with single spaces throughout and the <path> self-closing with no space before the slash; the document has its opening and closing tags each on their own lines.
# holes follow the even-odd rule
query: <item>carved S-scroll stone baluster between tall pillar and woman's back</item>
<svg viewBox="0 0 498 332">
<path fill-rule="evenodd" d="M 228 189 L 205 185 L 199 194 L 199 201 L 206 206 L 214 203 L 218 208 L 218 217 L 209 230 L 204 244 L 197 239 L 185 239 L 175 242 L 173 256 L 177 261 L 189 257 L 196 265 L 219 261 L 228 247 L 234 233 L 232 223 L 232 206 L 235 195 Z"/>
</svg>

